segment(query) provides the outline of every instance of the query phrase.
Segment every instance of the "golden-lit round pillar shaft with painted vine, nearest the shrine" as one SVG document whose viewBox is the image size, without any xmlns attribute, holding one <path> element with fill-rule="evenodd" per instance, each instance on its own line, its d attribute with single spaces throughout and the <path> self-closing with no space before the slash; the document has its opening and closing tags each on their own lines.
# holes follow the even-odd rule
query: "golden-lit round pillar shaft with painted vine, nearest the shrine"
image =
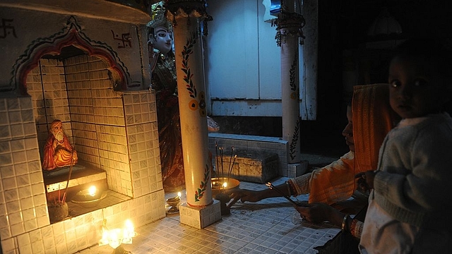
<svg viewBox="0 0 452 254">
<path fill-rule="evenodd" d="M 205 1 L 199 0 L 166 2 L 167 19 L 174 31 L 186 200 L 192 207 L 205 207 L 213 202 L 201 48 L 202 36 L 207 32 L 206 21 L 210 20 L 205 6 Z"/>
</svg>

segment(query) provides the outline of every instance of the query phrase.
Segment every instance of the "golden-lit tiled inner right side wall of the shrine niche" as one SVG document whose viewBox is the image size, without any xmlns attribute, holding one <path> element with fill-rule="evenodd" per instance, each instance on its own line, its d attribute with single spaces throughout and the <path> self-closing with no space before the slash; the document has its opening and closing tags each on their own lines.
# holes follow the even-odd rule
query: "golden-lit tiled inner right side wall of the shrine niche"
<svg viewBox="0 0 452 254">
<path fill-rule="evenodd" d="M 119 135 L 119 138 L 113 138 L 113 140 L 118 140 L 118 146 L 125 146 L 124 124 L 118 125 L 115 123 L 119 121 L 112 120 L 112 118 L 124 119 L 124 112 L 121 106 L 121 95 L 112 90 L 107 64 L 96 57 L 81 55 L 66 59 L 64 66 L 78 157 L 93 167 L 104 169 L 107 175 L 115 174 L 115 169 L 110 166 L 113 164 L 111 160 L 120 157 L 109 155 L 106 151 L 112 149 L 110 151 L 119 152 L 119 154 L 122 152 L 122 155 L 126 155 L 126 152 L 124 148 L 119 149 L 115 147 L 116 145 L 113 147 L 109 145 L 112 143 L 112 138 L 105 136 Z M 107 101 L 110 103 L 107 104 Z M 112 113 L 117 116 L 112 117 Z M 109 128 L 104 127 L 106 124 L 110 124 Z M 119 130 L 115 130 L 116 128 Z M 116 169 L 119 168 L 117 165 Z M 109 188 L 121 192 L 119 191 L 121 188 L 116 184 Z"/>
</svg>

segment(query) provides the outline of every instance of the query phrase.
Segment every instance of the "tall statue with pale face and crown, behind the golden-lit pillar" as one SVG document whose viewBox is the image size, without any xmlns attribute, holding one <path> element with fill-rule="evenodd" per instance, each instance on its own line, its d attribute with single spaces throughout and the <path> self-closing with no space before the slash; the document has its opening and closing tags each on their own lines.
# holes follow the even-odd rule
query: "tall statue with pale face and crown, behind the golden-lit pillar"
<svg viewBox="0 0 452 254">
<path fill-rule="evenodd" d="M 152 88 L 155 90 L 160 164 L 165 191 L 185 188 L 184 157 L 179 119 L 176 63 L 173 52 L 172 25 L 165 18 L 163 1 L 153 4 L 153 20 L 148 23 Z M 219 131 L 208 117 L 208 131 Z"/>
</svg>

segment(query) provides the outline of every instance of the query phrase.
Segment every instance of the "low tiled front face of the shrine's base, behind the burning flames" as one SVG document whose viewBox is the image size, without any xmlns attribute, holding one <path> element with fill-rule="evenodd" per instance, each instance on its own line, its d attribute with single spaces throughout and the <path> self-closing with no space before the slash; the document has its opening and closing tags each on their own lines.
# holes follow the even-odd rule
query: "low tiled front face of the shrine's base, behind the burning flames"
<svg viewBox="0 0 452 254">
<path fill-rule="evenodd" d="M 1 246 L 4 254 L 76 253 L 98 243 L 102 237 L 104 219 L 107 227 L 114 229 L 124 226 L 126 219 L 131 219 L 134 226 L 138 227 L 163 217 L 165 194 L 158 191 L 62 222 L 47 223 L 16 237 L 2 238 Z"/>
</svg>

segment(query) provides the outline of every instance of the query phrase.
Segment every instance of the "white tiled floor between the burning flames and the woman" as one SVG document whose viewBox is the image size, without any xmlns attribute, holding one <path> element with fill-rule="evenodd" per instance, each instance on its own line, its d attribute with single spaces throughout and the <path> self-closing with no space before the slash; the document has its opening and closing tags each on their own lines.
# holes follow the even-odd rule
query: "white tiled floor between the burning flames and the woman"
<svg viewBox="0 0 452 254">
<path fill-rule="evenodd" d="M 278 185 L 287 178 L 273 181 Z M 267 188 L 264 184 L 240 183 L 240 188 Z M 167 193 L 166 198 L 175 193 Z M 307 200 L 307 195 L 297 197 Z M 182 194 L 182 202 L 185 197 Z M 285 198 L 256 203 L 237 202 L 231 214 L 204 229 L 180 223 L 179 214 L 136 229 L 133 243 L 123 244 L 129 253 L 317 253 L 315 249 L 331 240 L 340 229 L 328 223 L 295 224 L 295 209 Z M 109 246 L 93 246 L 78 253 L 112 253 Z"/>
</svg>

